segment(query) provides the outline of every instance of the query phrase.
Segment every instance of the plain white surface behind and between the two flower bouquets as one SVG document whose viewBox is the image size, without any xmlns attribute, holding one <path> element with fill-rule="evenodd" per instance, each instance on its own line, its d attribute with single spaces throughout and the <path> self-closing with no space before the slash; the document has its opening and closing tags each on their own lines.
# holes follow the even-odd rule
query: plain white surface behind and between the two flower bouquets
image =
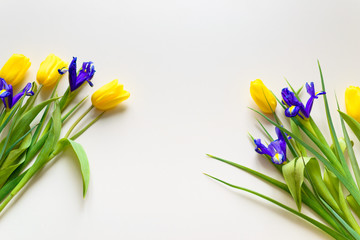
<svg viewBox="0 0 360 240">
<path fill-rule="evenodd" d="M 344 89 L 360 85 L 359 13 L 355 0 L 1 1 L 0 65 L 23 53 L 33 80 L 47 54 L 78 56 L 95 62 L 89 92 L 119 78 L 132 94 L 125 111 L 106 114 L 79 138 L 91 163 L 86 199 L 69 151 L 4 212 L 1 237 L 327 239 L 202 172 L 295 207 L 205 153 L 277 176 L 247 138 L 261 136 L 247 109 L 249 82 L 261 78 L 275 92 L 283 77 L 319 86 L 320 59 L 330 100 L 336 89 L 342 104 Z"/>
</svg>

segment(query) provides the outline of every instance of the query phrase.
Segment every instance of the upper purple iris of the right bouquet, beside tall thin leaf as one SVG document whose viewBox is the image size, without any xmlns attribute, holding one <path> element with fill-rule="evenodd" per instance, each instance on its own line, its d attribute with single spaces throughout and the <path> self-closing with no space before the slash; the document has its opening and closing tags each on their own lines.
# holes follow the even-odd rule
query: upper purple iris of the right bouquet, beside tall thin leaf
<svg viewBox="0 0 360 240">
<path fill-rule="evenodd" d="M 283 88 L 281 95 L 283 98 L 283 103 L 288 106 L 285 110 L 285 116 L 295 117 L 296 115 L 301 118 L 309 118 L 310 112 L 314 103 L 314 100 L 318 98 L 319 95 L 325 94 L 324 91 L 315 92 L 314 83 L 306 83 L 306 91 L 310 95 L 310 98 L 306 102 L 306 106 L 300 102 L 295 93 L 291 92 L 288 88 Z"/>
</svg>

